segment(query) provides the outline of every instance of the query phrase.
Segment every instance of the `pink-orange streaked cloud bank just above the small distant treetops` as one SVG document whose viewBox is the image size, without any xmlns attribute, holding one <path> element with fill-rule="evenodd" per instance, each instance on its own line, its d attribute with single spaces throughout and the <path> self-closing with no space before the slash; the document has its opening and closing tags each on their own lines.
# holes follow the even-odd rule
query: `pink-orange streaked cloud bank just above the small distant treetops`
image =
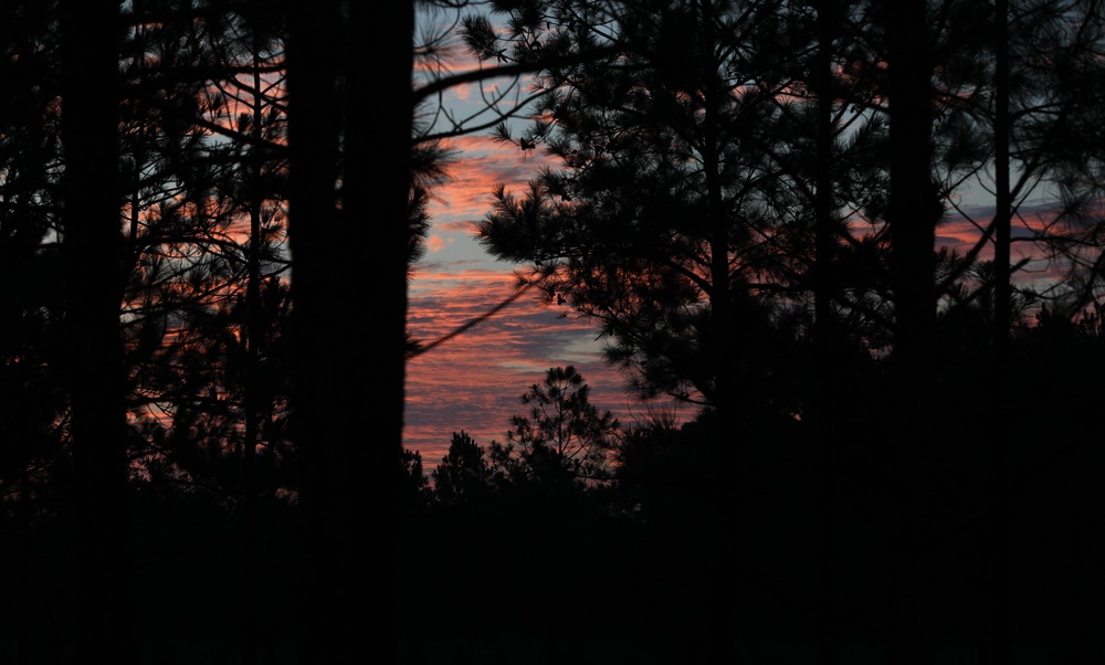
<svg viewBox="0 0 1105 665">
<path fill-rule="evenodd" d="M 432 341 L 486 313 L 514 293 L 512 275 L 495 271 L 422 274 L 412 294 L 410 328 Z M 449 450 L 453 432 L 478 443 L 506 441 L 511 416 L 524 412 L 522 394 L 550 367 L 573 365 L 591 387 L 591 401 L 622 420 L 635 398 L 617 370 L 602 360 L 597 330 L 586 321 L 543 308 L 523 295 L 497 315 L 445 341 L 407 366 L 408 448 L 429 471 Z"/>
</svg>

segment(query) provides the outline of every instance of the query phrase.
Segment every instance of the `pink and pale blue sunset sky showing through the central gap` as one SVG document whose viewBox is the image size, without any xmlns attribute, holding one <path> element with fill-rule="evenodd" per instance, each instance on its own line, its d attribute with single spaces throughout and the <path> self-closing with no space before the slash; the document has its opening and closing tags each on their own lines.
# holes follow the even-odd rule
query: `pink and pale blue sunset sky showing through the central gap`
<svg viewBox="0 0 1105 665">
<path fill-rule="evenodd" d="M 445 104 L 464 115 L 482 108 L 482 93 L 494 94 L 502 85 L 503 81 L 491 81 L 461 86 L 448 94 Z M 514 293 L 513 271 L 519 266 L 487 254 L 475 241 L 474 223 L 490 210 L 496 184 L 522 190 L 546 159 L 540 147 L 524 152 L 493 141 L 488 133 L 453 139 L 449 146 L 456 157 L 451 180 L 433 192 L 427 254 L 410 283 L 409 327 L 427 342 Z M 978 190 L 962 207 L 985 225 L 990 201 Z M 1030 208 L 1023 207 L 1022 213 L 1028 215 Z M 977 233 L 969 222 L 956 218 L 938 230 L 937 244 L 966 250 Z M 1014 243 L 1014 261 L 1022 249 Z M 1030 267 L 1035 276 L 1045 275 L 1043 263 Z M 576 366 L 591 387 L 592 403 L 611 410 L 623 423 L 646 418 L 645 407 L 627 393 L 622 378 L 603 363 L 597 329 L 564 318 L 566 310 L 555 306 L 540 308 L 537 298 L 524 294 L 495 316 L 408 363 L 403 444 L 421 453 L 428 473 L 448 452 L 453 432 L 463 430 L 482 445 L 492 440 L 505 442 L 511 416 L 523 412 L 519 397 L 540 382 L 550 367 Z"/>
</svg>

